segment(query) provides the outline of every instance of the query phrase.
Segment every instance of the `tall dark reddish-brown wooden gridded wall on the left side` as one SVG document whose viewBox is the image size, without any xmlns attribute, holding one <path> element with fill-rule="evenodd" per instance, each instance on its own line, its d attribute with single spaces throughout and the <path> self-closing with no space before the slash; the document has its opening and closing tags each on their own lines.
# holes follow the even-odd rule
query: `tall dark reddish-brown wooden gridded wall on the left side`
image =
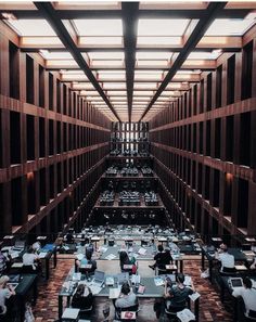
<svg viewBox="0 0 256 322">
<path fill-rule="evenodd" d="M 18 41 L 0 22 L 0 232 L 80 227 L 98 197 L 111 123 Z"/>
</svg>

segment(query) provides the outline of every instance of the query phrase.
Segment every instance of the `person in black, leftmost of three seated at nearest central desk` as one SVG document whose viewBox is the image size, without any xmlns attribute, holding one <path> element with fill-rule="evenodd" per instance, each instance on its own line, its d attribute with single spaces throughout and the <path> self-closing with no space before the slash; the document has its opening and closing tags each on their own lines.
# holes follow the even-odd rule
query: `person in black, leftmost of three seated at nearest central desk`
<svg viewBox="0 0 256 322">
<path fill-rule="evenodd" d="M 93 296 L 90 287 L 85 284 L 77 286 L 76 293 L 72 298 L 72 307 L 75 309 L 87 310 L 92 307 Z"/>
</svg>

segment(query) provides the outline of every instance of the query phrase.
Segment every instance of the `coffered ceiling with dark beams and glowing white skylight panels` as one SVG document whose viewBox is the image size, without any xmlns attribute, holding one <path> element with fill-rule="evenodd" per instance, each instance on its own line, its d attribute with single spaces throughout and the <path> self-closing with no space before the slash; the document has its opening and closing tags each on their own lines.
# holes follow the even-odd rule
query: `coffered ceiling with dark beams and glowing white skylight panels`
<svg viewBox="0 0 256 322">
<path fill-rule="evenodd" d="M 25 52 L 112 120 L 149 120 L 226 52 L 240 51 L 256 2 L 0 2 Z"/>
</svg>

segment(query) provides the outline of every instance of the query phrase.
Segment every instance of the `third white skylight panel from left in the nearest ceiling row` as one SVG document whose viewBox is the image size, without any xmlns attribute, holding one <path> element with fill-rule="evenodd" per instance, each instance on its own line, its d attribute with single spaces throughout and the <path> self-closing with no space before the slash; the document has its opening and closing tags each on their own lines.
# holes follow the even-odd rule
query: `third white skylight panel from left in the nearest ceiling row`
<svg viewBox="0 0 256 322">
<path fill-rule="evenodd" d="M 138 36 L 183 36 L 189 20 L 139 20 Z"/>
</svg>

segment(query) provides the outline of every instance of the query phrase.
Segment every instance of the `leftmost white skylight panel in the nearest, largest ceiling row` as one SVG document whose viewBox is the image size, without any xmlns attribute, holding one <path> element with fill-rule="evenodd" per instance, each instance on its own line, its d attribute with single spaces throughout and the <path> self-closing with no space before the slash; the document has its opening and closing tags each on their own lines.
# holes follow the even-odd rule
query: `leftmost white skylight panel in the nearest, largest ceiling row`
<svg viewBox="0 0 256 322">
<path fill-rule="evenodd" d="M 56 36 L 52 27 L 44 20 L 5 21 L 20 36 Z"/>
</svg>

